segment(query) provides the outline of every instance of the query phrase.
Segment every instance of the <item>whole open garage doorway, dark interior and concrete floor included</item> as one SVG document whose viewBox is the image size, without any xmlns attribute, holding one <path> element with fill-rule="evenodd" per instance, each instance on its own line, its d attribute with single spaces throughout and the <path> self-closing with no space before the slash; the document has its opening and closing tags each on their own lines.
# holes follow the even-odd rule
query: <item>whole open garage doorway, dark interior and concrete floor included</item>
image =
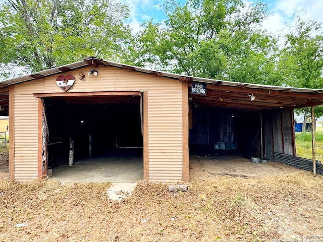
<svg viewBox="0 0 323 242">
<path fill-rule="evenodd" d="M 41 97 L 53 177 L 123 183 L 143 178 L 141 93 L 113 94 Z"/>
</svg>

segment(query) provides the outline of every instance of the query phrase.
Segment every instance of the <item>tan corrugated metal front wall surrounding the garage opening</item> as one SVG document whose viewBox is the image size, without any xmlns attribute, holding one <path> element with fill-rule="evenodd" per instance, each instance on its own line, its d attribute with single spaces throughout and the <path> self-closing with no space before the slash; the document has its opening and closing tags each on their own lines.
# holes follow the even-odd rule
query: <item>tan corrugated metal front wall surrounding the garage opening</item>
<svg viewBox="0 0 323 242">
<path fill-rule="evenodd" d="M 182 83 L 113 67 L 97 70 L 99 75 L 86 75 L 85 82 L 78 79 L 79 72 L 87 74 L 88 68 L 66 73 L 75 77 L 73 89 L 68 92 L 147 90 L 149 181 L 182 180 Z M 32 93 L 64 92 L 56 84 L 58 76 L 16 85 L 15 177 L 18 180 L 37 176 L 38 100 Z"/>
</svg>

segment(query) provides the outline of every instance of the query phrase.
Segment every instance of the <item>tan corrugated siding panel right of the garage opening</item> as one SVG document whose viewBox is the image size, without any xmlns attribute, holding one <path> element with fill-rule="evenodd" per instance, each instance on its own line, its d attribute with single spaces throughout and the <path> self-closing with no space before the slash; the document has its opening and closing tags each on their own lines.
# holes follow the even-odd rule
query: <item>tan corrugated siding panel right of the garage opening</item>
<svg viewBox="0 0 323 242">
<path fill-rule="evenodd" d="M 182 89 L 160 82 L 148 92 L 149 180 L 180 181 L 183 168 Z M 160 91 L 163 90 L 163 91 Z"/>
</svg>

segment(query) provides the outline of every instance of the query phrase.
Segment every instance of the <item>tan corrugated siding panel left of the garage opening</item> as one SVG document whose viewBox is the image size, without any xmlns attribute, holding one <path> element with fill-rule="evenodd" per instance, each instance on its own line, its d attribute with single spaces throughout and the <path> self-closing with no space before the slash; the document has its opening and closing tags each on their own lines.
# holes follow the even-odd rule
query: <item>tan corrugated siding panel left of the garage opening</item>
<svg viewBox="0 0 323 242">
<path fill-rule="evenodd" d="M 25 181 L 38 175 L 38 99 L 33 92 L 43 90 L 43 81 L 15 87 L 15 179 Z"/>
</svg>

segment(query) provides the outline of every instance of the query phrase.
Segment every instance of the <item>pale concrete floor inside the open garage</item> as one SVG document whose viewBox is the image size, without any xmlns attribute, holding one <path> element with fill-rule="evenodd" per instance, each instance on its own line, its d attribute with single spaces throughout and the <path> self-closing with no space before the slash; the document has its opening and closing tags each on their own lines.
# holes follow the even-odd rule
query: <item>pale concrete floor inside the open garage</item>
<svg viewBox="0 0 323 242">
<path fill-rule="evenodd" d="M 142 150 L 118 150 L 100 157 L 74 161 L 52 168 L 52 177 L 62 183 L 135 183 L 143 179 Z"/>
</svg>

